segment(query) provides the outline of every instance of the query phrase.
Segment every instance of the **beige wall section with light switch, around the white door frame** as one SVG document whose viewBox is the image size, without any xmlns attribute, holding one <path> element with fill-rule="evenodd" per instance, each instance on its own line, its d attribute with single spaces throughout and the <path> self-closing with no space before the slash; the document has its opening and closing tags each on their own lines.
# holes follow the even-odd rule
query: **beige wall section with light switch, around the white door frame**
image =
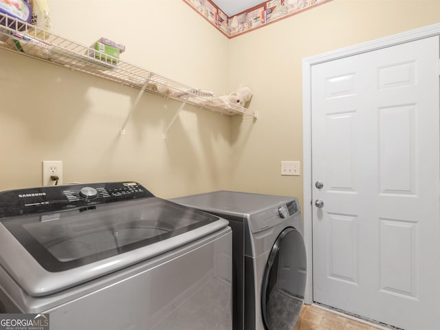
<svg viewBox="0 0 440 330">
<path fill-rule="evenodd" d="M 303 197 L 302 59 L 440 22 L 439 0 L 334 0 L 230 41 L 230 85 L 254 90 L 255 123 L 234 118 L 232 189 Z M 303 169 L 301 169 L 302 171 Z"/>
</svg>

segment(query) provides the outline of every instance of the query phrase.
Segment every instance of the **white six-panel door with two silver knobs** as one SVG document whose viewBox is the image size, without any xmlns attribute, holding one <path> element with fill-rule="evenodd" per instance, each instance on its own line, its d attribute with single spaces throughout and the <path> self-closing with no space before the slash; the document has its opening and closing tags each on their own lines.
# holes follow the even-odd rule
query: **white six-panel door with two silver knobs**
<svg viewBox="0 0 440 330">
<path fill-rule="evenodd" d="M 314 301 L 408 330 L 440 329 L 439 45 L 311 68 Z"/>
</svg>

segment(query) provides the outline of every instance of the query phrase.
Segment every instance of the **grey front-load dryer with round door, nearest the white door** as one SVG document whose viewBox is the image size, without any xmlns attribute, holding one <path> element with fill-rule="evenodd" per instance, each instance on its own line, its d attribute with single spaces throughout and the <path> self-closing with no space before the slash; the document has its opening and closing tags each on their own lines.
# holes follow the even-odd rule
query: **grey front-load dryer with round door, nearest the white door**
<svg viewBox="0 0 440 330">
<path fill-rule="evenodd" d="M 233 329 L 292 330 L 306 284 L 298 199 L 215 191 L 173 201 L 230 221 Z"/>
</svg>

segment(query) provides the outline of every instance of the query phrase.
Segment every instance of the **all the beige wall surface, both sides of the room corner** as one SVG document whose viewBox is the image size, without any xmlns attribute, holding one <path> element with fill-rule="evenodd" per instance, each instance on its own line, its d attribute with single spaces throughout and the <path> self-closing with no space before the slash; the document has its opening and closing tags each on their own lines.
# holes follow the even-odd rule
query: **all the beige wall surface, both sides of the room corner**
<svg viewBox="0 0 440 330">
<path fill-rule="evenodd" d="M 334 0 L 228 40 L 181 0 L 49 5 L 54 33 L 78 43 L 120 41 L 124 61 L 216 94 L 250 85 L 260 118 L 188 106 L 163 140 L 180 104 L 147 93 L 121 136 L 137 90 L 0 50 L 0 190 L 39 186 L 41 161 L 63 160 L 65 183 L 302 199 L 303 177 L 279 174 L 281 160 L 303 161 L 302 59 L 440 21 L 439 0 Z"/>
</svg>

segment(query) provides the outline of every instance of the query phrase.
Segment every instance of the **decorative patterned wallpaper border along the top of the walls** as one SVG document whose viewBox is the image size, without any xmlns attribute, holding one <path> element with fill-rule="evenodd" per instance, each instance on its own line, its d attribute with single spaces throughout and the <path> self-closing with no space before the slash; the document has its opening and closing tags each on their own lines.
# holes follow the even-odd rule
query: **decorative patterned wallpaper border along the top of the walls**
<svg viewBox="0 0 440 330">
<path fill-rule="evenodd" d="M 246 32 L 261 28 L 267 24 L 309 10 L 333 0 L 270 0 L 263 1 L 232 17 L 228 17 L 211 0 L 184 0 L 192 9 L 201 14 L 229 39 Z"/>
</svg>

